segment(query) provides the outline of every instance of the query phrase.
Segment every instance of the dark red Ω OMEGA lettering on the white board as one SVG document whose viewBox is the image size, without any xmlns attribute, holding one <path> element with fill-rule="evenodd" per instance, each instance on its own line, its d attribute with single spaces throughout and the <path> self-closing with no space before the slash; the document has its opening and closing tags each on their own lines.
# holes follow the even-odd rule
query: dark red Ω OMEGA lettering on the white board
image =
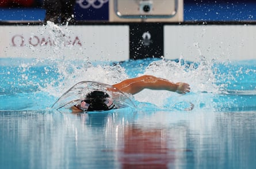
<svg viewBox="0 0 256 169">
<path fill-rule="evenodd" d="M 75 46 L 79 45 L 82 46 L 79 37 L 76 36 L 75 38 L 68 37 L 63 42 L 64 46 Z M 51 37 L 39 37 L 39 36 L 30 36 L 24 37 L 21 34 L 16 34 L 12 37 L 12 46 L 13 47 L 24 47 L 32 45 L 33 47 L 40 47 L 40 46 L 56 46 L 56 43 Z"/>
</svg>

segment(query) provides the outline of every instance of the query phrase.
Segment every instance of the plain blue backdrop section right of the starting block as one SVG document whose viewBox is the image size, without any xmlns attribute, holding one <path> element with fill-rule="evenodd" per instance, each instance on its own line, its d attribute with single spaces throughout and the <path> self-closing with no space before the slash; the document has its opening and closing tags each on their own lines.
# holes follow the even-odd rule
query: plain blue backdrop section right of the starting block
<svg viewBox="0 0 256 169">
<path fill-rule="evenodd" d="M 256 20 L 256 1 L 184 0 L 185 21 Z"/>
</svg>

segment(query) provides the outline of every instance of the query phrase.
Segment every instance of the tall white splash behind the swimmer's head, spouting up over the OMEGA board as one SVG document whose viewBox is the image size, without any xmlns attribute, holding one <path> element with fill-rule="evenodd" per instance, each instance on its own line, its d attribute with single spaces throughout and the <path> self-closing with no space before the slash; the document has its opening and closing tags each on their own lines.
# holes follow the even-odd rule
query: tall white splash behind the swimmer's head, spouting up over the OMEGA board
<svg viewBox="0 0 256 169">
<path fill-rule="evenodd" d="M 47 22 L 47 25 L 43 26 L 40 32 L 46 34 L 45 36 L 48 34 L 54 41 L 52 56 L 43 60 L 43 62 L 51 62 L 55 74 L 58 75 L 58 79 L 41 87 L 42 91 L 49 92 L 54 97 L 59 97 L 75 83 L 83 80 L 114 84 L 128 78 L 124 68 L 119 64 L 110 66 L 110 62 L 105 60 L 93 63 L 86 57 L 81 56 L 74 59 L 74 57 L 68 56 L 70 53 L 64 53 L 64 48 L 72 48 L 72 45 L 68 45 L 68 37 L 72 32 L 68 30 L 67 25 L 66 27 L 60 27 L 53 22 Z"/>
</svg>

